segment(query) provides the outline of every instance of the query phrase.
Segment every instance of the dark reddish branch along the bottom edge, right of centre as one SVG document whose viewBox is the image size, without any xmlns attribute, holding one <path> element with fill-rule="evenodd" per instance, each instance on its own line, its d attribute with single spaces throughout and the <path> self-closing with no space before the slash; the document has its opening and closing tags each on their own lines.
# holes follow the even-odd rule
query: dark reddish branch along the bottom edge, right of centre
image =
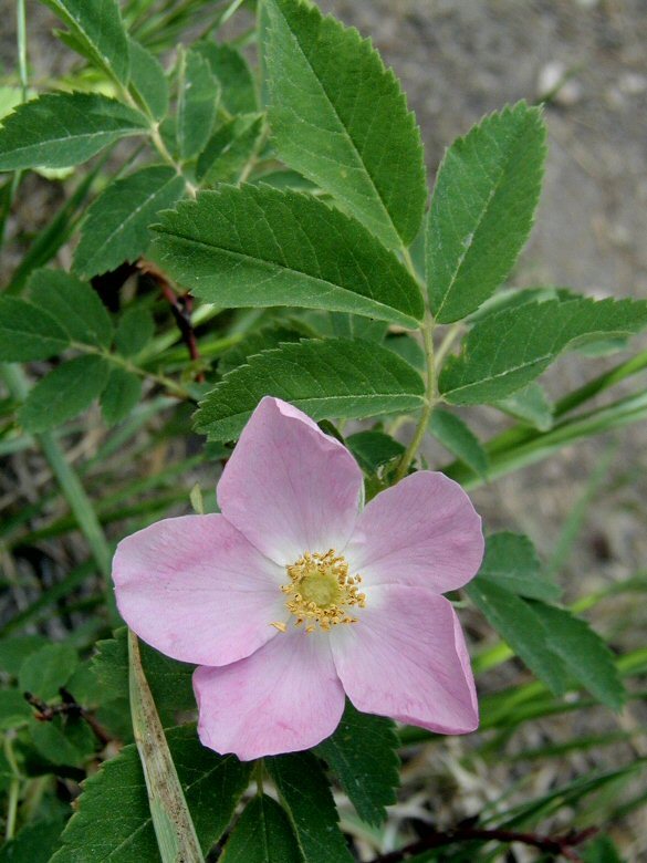
<svg viewBox="0 0 647 863">
<path fill-rule="evenodd" d="M 431 831 L 417 842 L 400 849 L 392 851 L 390 854 L 384 854 L 376 857 L 373 863 L 401 863 L 416 854 L 430 851 L 435 848 L 451 845 L 455 842 L 468 842 L 469 840 L 481 840 L 484 842 L 521 842 L 524 845 L 531 845 L 545 854 L 563 856 L 566 860 L 581 860 L 581 856 L 573 849 L 586 842 L 595 833 L 597 828 L 588 828 L 580 832 L 571 831 L 560 836 L 542 836 L 538 833 L 518 833 L 514 830 L 487 830 L 474 826 L 457 826 L 447 832 Z"/>
</svg>

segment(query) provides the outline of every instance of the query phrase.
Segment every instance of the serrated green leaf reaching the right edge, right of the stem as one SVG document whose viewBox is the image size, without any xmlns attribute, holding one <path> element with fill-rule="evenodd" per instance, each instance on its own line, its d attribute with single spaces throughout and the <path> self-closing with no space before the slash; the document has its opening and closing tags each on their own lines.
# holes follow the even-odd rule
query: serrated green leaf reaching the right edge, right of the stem
<svg viewBox="0 0 647 863">
<path fill-rule="evenodd" d="M 647 325 L 643 300 L 550 300 L 489 315 L 470 330 L 439 388 L 457 405 L 497 402 L 538 377 L 566 347 Z"/>
</svg>

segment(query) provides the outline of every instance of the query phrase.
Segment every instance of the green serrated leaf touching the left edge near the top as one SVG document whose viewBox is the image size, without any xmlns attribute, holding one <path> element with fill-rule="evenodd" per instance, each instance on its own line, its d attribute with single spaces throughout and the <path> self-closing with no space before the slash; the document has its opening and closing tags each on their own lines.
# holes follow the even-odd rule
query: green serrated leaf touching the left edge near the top
<svg viewBox="0 0 647 863">
<path fill-rule="evenodd" d="M 25 102 L 0 129 L 0 170 L 80 165 L 126 135 L 142 135 L 146 118 L 98 93 L 56 93 Z"/>
</svg>

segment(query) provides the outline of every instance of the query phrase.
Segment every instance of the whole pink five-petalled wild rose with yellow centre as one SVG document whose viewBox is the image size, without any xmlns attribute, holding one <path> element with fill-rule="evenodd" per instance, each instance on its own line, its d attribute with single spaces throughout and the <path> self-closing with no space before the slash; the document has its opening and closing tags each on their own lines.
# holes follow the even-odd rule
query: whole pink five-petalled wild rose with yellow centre
<svg viewBox="0 0 647 863">
<path fill-rule="evenodd" d="M 242 760 L 328 737 L 358 710 L 440 734 L 478 726 L 451 604 L 483 554 L 481 520 L 421 470 L 363 507 L 362 471 L 305 414 L 261 401 L 218 485 L 222 514 L 123 540 L 113 578 L 128 626 L 196 663 L 198 732 Z"/>
</svg>

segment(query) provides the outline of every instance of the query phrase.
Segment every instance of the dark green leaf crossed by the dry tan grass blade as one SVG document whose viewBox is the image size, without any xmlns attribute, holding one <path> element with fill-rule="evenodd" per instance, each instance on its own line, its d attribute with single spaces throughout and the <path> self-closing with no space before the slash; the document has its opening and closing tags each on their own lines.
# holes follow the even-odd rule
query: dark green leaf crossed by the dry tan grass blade
<svg viewBox="0 0 647 863">
<path fill-rule="evenodd" d="M 174 728 L 167 740 L 204 853 L 229 826 L 249 783 L 250 765 L 205 749 L 194 726 Z M 52 863 L 143 863 L 159 859 L 146 782 L 135 746 L 102 765 L 83 783 L 77 811 Z"/>
</svg>

